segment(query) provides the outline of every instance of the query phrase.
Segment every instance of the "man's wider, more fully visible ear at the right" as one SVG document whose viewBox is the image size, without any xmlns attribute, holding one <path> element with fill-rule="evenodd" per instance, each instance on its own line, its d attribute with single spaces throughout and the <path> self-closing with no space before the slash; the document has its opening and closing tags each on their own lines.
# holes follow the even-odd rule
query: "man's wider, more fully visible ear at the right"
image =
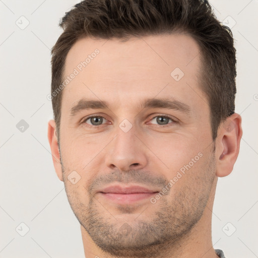
<svg viewBox="0 0 258 258">
<path fill-rule="evenodd" d="M 219 177 L 229 175 L 234 167 L 242 137 L 242 118 L 234 113 L 220 125 L 216 139 L 216 160 Z"/>
</svg>

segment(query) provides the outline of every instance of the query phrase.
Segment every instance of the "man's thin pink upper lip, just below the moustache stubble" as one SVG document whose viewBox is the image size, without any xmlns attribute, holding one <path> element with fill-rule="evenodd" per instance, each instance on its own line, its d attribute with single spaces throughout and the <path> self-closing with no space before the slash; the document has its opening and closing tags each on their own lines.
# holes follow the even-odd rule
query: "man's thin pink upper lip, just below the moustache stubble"
<svg viewBox="0 0 258 258">
<path fill-rule="evenodd" d="M 157 191 L 148 189 L 139 185 L 132 185 L 132 186 L 111 185 L 100 190 L 100 192 L 129 194 L 129 193 L 143 193 L 143 192 L 157 192 Z"/>
</svg>

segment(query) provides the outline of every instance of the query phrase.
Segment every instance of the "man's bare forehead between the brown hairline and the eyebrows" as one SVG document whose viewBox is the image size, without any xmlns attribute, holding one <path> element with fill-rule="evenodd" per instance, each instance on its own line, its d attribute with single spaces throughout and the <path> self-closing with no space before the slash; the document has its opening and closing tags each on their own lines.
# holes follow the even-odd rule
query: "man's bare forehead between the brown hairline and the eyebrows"
<svg viewBox="0 0 258 258">
<path fill-rule="evenodd" d="M 187 34 L 127 41 L 85 37 L 68 52 L 63 77 L 73 73 L 76 76 L 64 88 L 62 99 L 71 108 L 82 97 L 108 97 L 120 105 L 133 95 L 143 99 L 169 94 L 185 99 L 186 94 L 192 94 L 192 88 L 202 95 L 198 87 L 200 65 L 200 47 Z M 188 96 L 186 102 L 191 101 Z"/>
</svg>

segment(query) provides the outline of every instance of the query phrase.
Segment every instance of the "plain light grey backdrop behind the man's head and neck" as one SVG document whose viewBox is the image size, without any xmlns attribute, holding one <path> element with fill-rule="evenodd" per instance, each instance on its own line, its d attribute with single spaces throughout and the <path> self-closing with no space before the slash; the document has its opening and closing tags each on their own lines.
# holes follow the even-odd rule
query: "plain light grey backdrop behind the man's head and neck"
<svg viewBox="0 0 258 258">
<path fill-rule="evenodd" d="M 47 141 L 47 122 L 52 119 L 46 98 L 50 49 L 61 33 L 59 19 L 78 2 L 0 0 L 2 258 L 84 257 L 79 222 L 55 174 Z M 227 258 L 254 258 L 258 257 L 258 1 L 211 4 L 220 21 L 229 26 L 236 22 L 232 28 L 237 49 L 236 112 L 242 116 L 244 132 L 233 172 L 218 181 L 213 243 Z M 21 119 L 29 124 L 24 132 L 16 127 Z M 22 222 L 29 227 L 25 236 L 20 235 L 26 233 Z"/>
</svg>

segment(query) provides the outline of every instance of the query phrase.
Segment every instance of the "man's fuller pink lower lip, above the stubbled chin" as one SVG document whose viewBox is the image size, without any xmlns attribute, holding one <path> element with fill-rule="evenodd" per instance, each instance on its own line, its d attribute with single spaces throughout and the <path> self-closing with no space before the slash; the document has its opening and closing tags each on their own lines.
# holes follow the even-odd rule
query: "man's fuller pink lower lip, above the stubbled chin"
<svg viewBox="0 0 258 258">
<path fill-rule="evenodd" d="M 138 192 L 138 193 L 105 193 L 101 192 L 101 195 L 110 201 L 114 201 L 120 204 L 134 203 L 145 199 L 150 199 L 157 192 Z"/>
</svg>

